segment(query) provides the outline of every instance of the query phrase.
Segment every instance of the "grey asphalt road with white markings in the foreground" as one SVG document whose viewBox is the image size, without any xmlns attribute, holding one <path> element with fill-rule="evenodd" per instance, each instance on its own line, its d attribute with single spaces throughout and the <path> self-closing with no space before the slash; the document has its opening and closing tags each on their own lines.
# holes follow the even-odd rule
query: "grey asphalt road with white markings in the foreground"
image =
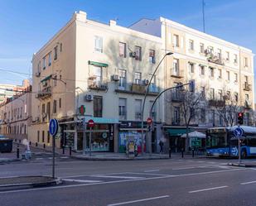
<svg viewBox="0 0 256 206">
<path fill-rule="evenodd" d="M 0 192 L 0 205 L 256 205 L 256 168 L 236 160 L 56 160 L 64 184 Z M 51 160 L 0 165 L 0 177 L 51 175 Z"/>
</svg>

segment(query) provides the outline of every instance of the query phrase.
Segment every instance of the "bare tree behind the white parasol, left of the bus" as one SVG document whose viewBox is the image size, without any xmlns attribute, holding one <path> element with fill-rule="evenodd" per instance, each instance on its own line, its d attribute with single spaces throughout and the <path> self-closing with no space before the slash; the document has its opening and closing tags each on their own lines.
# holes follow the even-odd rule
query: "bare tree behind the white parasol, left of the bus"
<svg viewBox="0 0 256 206">
<path fill-rule="evenodd" d="M 189 126 L 191 120 L 196 116 L 197 113 L 200 113 L 200 109 L 204 106 L 203 93 L 190 92 L 186 89 L 181 92 L 181 117 L 186 125 L 186 151 L 189 146 Z"/>
</svg>

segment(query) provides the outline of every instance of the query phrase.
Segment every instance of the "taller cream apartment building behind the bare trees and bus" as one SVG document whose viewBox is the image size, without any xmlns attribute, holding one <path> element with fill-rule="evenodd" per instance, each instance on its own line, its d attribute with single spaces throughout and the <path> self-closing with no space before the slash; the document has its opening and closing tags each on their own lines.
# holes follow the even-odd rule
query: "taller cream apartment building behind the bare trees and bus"
<svg viewBox="0 0 256 206">
<path fill-rule="evenodd" d="M 130 28 L 162 38 L 162 49 L 174 54 L 165 60 L 165 86 L 186 84 L 195 80 L 196 92 L 205 96 L 200 113 L 191 121 L 191 127 L 204 131 L 207 127 L 232 126 L 236 113 L 244 112 L 244 124 L 254 125 L 254 54 L 252 50 L 234 45 L 187 26 L 160 17 L 142 19 Z M 219 106 L 229 101 L 237 107 L 232 115 Z M 218 107 L 217 107 L 217 106 Z M 221 106 L 222 105 L 222 106 Z M 183 147 L 179 139 L 186 132 L 181 117 L 181 98 L 178 91 L 166 93 L 164 127 L 171 146 Z M 228 122 L 228 124 L 227 124 Z M 171 128 L 171 129 L 170 129 Z M 168 138 L 169 139 L 169 138 Z"/>
</svg>

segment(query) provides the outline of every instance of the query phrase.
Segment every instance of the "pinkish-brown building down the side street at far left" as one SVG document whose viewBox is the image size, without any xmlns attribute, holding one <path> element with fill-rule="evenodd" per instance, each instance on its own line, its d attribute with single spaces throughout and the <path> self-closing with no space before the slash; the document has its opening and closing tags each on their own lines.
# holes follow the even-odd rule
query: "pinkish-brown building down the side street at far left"
<svg viewBox="0 0 256 206">
<path fill-rule="evenodd" d="M 31 87 L 0 104 L 0 134 L 14 140 L 27 139 L 31 124 Z"/>
</svg>

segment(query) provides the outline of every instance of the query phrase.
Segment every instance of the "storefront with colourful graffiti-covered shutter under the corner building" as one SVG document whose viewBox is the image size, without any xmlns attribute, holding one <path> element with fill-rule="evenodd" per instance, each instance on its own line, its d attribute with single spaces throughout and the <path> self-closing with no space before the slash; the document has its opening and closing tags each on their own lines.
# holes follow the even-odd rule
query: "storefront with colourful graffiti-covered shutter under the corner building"
<svg viewBox="0 0 256 206">
<path fill-rule="evenodd" d="M 147 130 L 147 123 L 144 123 L 143 138 L 145 142 Z M 134 137 L 134 143 L 137 146 L 138 153 L 142 152 L 142 122 L 123 121 L 119 124 L 118 132 L 118 151 L 120 153 L 126 152 L 126 141 L 128 137 Z M 144 143 L 144 151 L 146 150 L 146 143 Z"/>
</svg>

